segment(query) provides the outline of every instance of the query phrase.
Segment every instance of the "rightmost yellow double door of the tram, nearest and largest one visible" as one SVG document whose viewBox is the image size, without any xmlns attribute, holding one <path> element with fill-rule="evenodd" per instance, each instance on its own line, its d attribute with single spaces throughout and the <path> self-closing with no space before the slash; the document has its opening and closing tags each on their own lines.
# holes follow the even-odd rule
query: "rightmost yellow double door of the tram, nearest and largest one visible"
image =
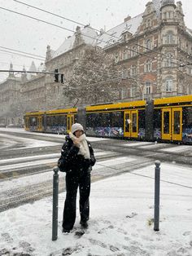
<svg viewBox="0 0 192 256">
<path fill-rule="evenodd" d="M 182 140 L 182 108 L 162 109 L 162 139 Z"/>
</svg>

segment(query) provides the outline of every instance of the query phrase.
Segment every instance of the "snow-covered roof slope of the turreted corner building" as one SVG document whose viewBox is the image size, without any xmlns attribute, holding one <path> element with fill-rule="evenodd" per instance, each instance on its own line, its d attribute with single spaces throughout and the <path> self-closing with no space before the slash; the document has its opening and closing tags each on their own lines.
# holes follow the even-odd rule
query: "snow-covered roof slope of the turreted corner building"
<svg viewBox="0 0 192 256">
<path fill-rule="evenodd" d="M 121 34 L 125 31 L 135 34 L 139 25 L 142 22 L 142 15 L 137 15 L 130 20 L 125 21 L 122 24 L 117 25 L 115 28 L 108 30 L 106 33 L 98 36 L 98 46 L 107 47 L 121 39 Z"/>
</svg>

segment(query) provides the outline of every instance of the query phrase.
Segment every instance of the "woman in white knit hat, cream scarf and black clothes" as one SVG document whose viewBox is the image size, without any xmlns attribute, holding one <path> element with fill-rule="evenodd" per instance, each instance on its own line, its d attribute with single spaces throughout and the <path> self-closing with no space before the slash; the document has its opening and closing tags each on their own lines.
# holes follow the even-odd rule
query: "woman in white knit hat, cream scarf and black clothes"
<svg viewBox="0 0 192 256">
<path fill-rule="evenodd" d="M 83 126 L 72 125 L 72 132 L 66 136 L 61 155 L 66 168 L 66 199 L 63 210 L 63 232 L 69 233 L 76 221 L 76 193 L 80 192 L 81 227 L 88 227 L 90 171 L 95 164 L 94 150 L 86 140 Z"/>
</svg>

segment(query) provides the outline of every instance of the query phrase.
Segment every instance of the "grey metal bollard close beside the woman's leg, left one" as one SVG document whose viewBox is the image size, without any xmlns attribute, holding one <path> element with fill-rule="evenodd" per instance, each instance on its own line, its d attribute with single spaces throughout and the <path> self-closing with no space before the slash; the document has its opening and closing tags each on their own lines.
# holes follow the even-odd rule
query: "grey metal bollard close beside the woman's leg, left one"
<svg viewBox="0 0 192 256">
<path fill-rule="evenodd" d="M 59 195 L 59 168 L 53 169 L 53 218 L 52 218 L 52 241 L 57 240 L 58 236 L 58 195 Z"/>
</svg>

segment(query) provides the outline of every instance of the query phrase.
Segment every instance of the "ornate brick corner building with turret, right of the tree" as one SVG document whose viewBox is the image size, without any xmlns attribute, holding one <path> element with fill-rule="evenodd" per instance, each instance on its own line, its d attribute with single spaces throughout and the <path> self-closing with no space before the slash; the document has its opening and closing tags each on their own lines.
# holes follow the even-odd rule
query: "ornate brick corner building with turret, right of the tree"
<svg viewBox="0 0 192 256">
<path fill-rule="evenodd" d="M 144 13 L 99 39 L 121 71 L 122 100 L 192 94 L 192 33 L 181 2 L 148 2 Z"/>
</svg>

